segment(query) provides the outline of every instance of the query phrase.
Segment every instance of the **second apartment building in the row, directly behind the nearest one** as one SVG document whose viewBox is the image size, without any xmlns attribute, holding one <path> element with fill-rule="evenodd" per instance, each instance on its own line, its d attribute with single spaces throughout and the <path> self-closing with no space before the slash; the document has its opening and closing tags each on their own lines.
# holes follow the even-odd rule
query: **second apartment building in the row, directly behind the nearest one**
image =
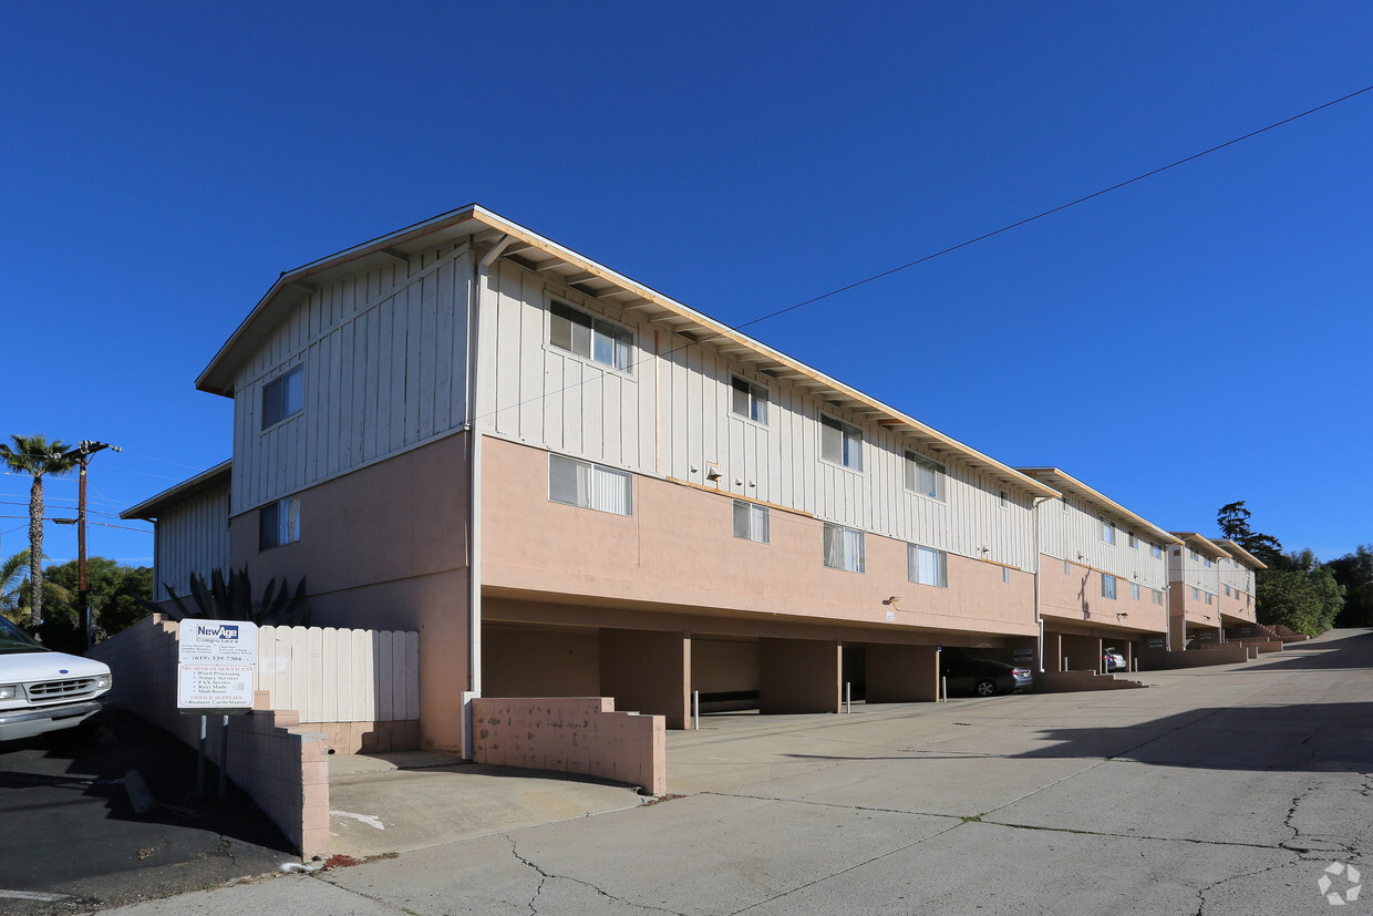
<svg viewBox="0 0 1373 916">
<path fill-rule="evenodd" d="M 1037 512 L 1045 670 L 1127 665 L 1162 648 L 1168 628 L 1167 551 L 1181 541 L 1056 467 L 1019 468 L 1061 493 Z"/>
</svg>

